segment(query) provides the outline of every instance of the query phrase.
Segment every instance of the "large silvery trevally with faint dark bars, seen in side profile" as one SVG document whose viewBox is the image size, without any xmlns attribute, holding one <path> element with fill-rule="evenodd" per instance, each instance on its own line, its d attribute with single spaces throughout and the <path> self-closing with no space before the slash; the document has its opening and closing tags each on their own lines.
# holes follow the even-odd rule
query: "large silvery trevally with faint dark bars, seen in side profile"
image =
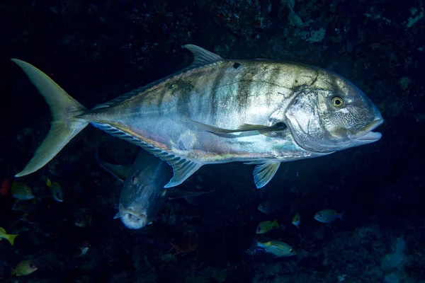
<svg viewBox="0 0 425 283">
<path fill-rule="evenodd" d="M 37 171 L 91 123 L 168 162 L 183 183 L 204 164 L 255 164 L 263 187 L 280 163 L 380 139 L 378 108 L 342 76 L 295 62 L 231 60 L 185 45 L 194 61 L 177 74 L 87 110 L 46 74 L 12 59 L 52 111 L 45 141 L 16 176 Z"/>
</svg>

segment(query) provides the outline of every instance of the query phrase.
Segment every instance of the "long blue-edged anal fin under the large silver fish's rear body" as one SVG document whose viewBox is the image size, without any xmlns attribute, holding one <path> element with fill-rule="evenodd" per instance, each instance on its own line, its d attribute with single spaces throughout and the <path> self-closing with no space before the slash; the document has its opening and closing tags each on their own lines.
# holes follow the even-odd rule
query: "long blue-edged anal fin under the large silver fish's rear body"
<svg viewBox="0 0 425 283">
<path fill-rule="evenodd" d="M 150 154 L 154 154 L 154 156 L 157 156 L 163 161 L 166 161 L 166 163 L 169 163 L 169 165 L 173 168 L 174 176 L 164 187 L 175 187 L 176 185 L 180 185 L 184 180 L 189 178 L 193 173 L 198 171 L 201 166 L 203 166 L 203 163 L 170 154 L 169 152 L 147 144 L 145 141 L 140 141 L 140 139 L 132 137 L 130 134 L 122 132 L 120 129 L 116 129 L 111 125 L 95 122 L 91 122 L 91 125 L 94 125 L 94 127 L 97 127 L 98 129 L 102 129 L 108 134 L 111 134 L 113 137 L 119 137 L 120 139 L 129 141 L 132 144 L 136 144 L 137 146 L 142 147 L 142 149 L 148 151 Z"/>
</svg>

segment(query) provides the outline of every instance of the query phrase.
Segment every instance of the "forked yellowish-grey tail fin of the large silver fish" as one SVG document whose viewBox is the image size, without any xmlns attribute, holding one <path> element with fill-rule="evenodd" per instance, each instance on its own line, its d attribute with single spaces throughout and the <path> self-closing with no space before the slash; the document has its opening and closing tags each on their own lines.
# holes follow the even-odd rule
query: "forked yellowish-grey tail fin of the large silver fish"
<svg viewBox="0 0 425 283">
<path fill-rule="evenodd" d="M 26 73 L 28 79 L 40 91 L 52 111 L 50 131 L 27 166 L 16 177 L 28 175 L 45 166 L 88 122 L 77 119 L 86 108 L 68 95 L 49 76 L 33 65 L 19 59 L 11 59 Z"/>
</svg>

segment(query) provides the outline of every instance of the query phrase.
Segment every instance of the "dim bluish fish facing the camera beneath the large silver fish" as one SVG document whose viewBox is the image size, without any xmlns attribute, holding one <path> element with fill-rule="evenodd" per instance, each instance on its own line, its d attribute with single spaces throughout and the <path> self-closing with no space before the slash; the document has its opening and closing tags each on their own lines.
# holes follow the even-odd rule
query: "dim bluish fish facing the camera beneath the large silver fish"
<svg viewBox="0 0 425 283">
<path fill-rule="evenodd" d="M 170 166 L 142 150 L 128 173 L 124 173 L 123 166 L 106 163 L 98 157 L 97 160 L 109 173 L 124 178 L 117 216 L 129 229 L 141 229 L 154 221 L 167 199 L 196 197 L 212 192 L 187 192 L 177 187 L 165 189 L 164 185 L 172 175 Z"/>
</svg>

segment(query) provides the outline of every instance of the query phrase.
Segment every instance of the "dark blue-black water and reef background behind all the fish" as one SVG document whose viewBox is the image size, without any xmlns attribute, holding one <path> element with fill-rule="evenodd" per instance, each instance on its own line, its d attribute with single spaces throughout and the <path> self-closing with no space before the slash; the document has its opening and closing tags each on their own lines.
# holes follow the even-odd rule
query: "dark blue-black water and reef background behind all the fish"
<svg viewBox="0 0 425 283">
<path fill-rule="evenodd" d="M 251 166 L 203 166 L 181 187 L 212 195 L 167 202 L 159 220 L 125 229 L 117 212 L 119 183 L 94 152 L 130 164 L 136 148 L 87 127 L 47 166 L 21 178 L 37 196 L 28 215 L 0 199 L 0 226 L 20 233 L 0 242 L 0 275 L 32 259 L 39 269 L 21 282 L 402 282 L 425 279 L 424 1 L 0 1 L 0 181 L 13 180 L 49 129 L 47 104 L 10 58 L 23 59 L 87 108 L 190 64 L 191 43 L 225 58 L 289 59 L 346 76 L 382 112 L 382 139 L 330 156 L 283 163 L 256 190 Z M 326 34 L 319 39 L 314 33 Z M 298 177 L 297 177 L 298 175 Z M 64 189 L 52 200 L 45 178 Z M 266 201 L 270 215 L 256 207 Z M 346 212 L 325 225 L 321 209 Z M 300 229 L 290 224 L 301 215 Z M 93 216 L 86 229 L 74 226 Z M 255 236 L 260 221 L 285 229 Z M 397 267 L 382 263 L 407 244 Z M 198 249 L 167 254 L 169 241 L 193 238 Z M 283 241 L 297 257 L 245 251 L 253 238 Z M 79 258 L 87 240 L 89 253 Z M 400 259 L 401 257 L 401 259 Z M 1 278 L 1 277 L 0 277 Z M 387 281 L 385 281 L 387 280 Z M 396 281 L 394 281 L 396 282 Z"/>
</svg>

